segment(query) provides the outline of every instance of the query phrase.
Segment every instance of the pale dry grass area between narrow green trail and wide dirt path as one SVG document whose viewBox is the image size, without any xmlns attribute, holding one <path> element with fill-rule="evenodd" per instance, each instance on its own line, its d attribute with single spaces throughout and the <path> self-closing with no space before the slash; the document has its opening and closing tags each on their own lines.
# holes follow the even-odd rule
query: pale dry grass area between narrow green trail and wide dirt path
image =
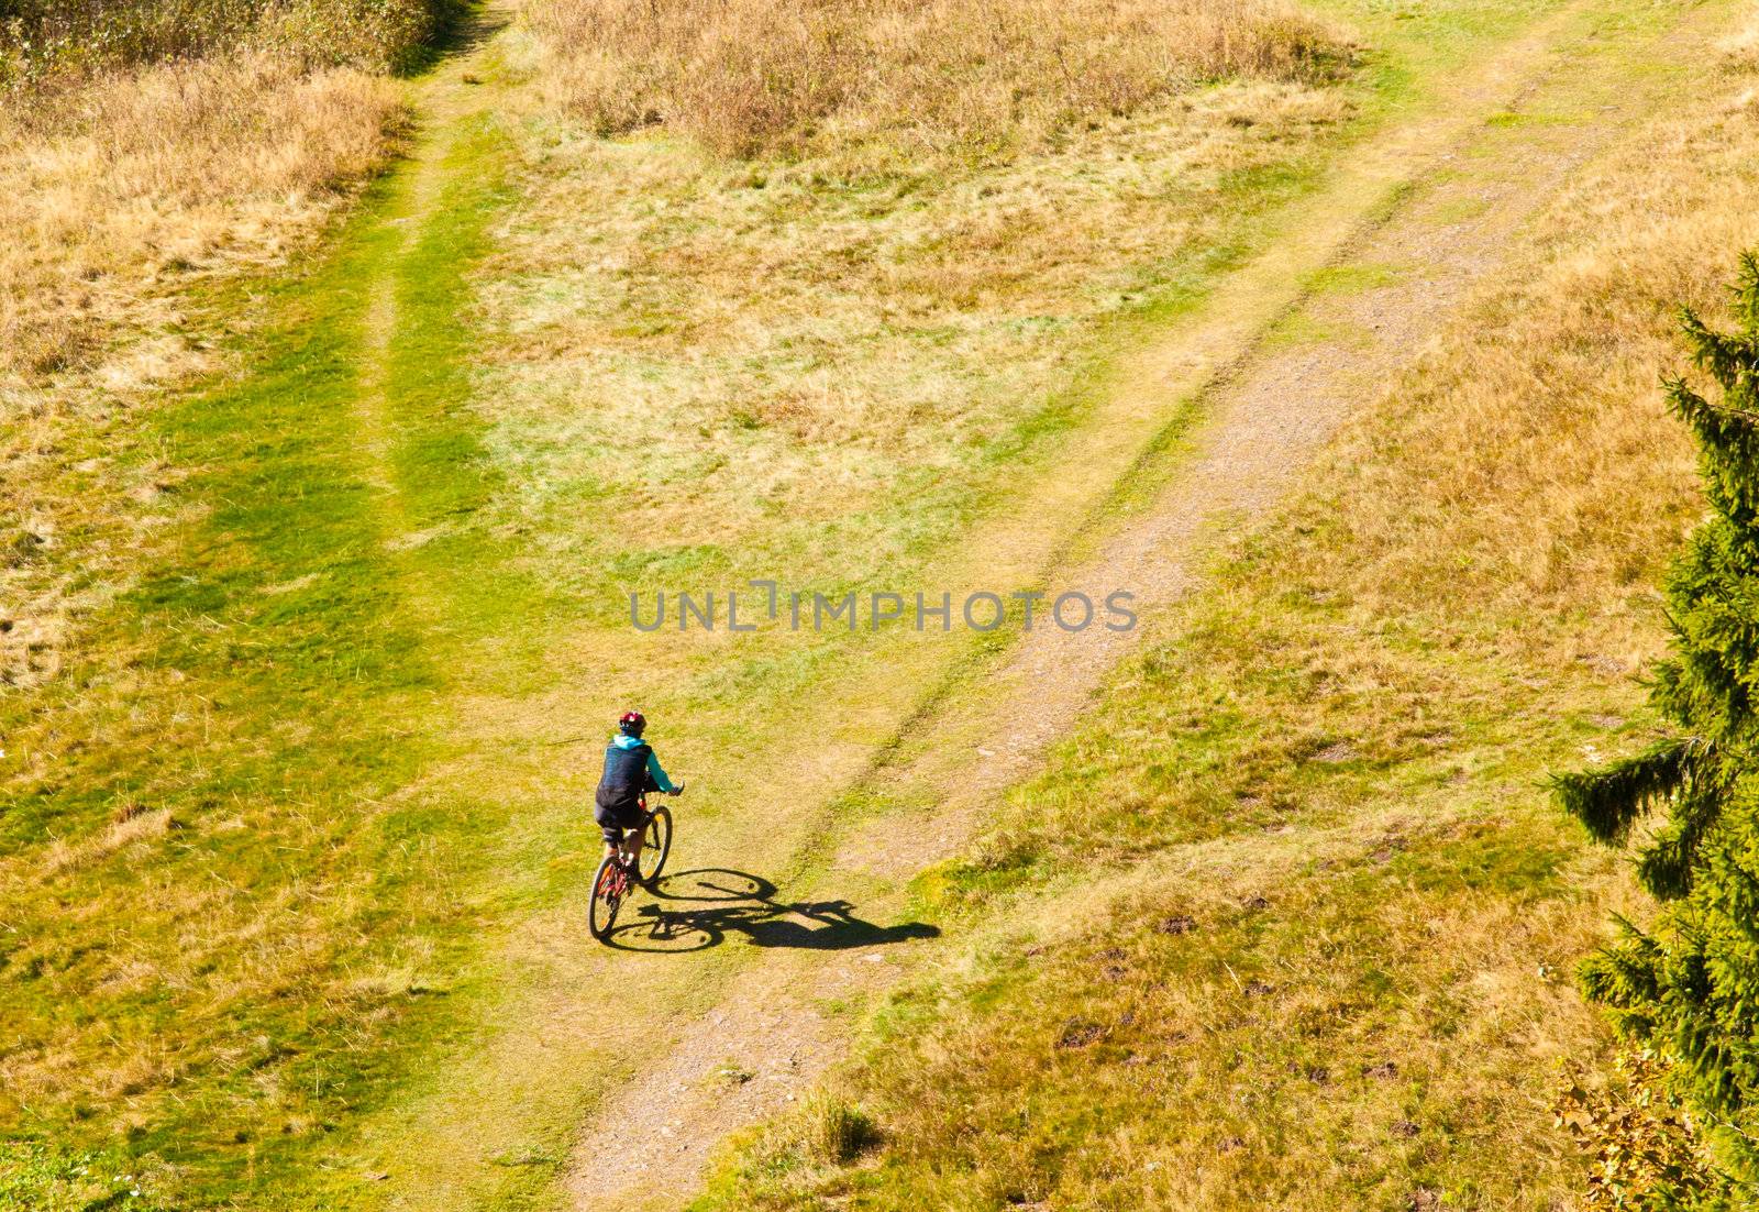
<svg viewBox="0 0 1759 1212">
<path fill-rule="evenodd" d="M 642 83 L 644 72 L 723 86 L 755 79 L 749 65 L 697 63 L 684 23 L 707 19 L 698 7 L 661 7 L 677 23 L 667 35 L 644 12 L 535 5 L 538 84 L 568 102 L 568 90 L 593 81 L 649 97 L 661 86 Z M 1092 109 L 1066 139 L 1038 137 L 1068 104 L 1041 56 L 1077 37 L 1062 25 L 1077 18 L 1092 18 L 1092 42 L 1078 53 L 1108 55 L 1119 42 L 1129 51 L 1119 70 L 1173 55 L 1147 9 L 1047 11 L 1040 23 L 1027 19 L 1034 5 L 1001 5 L 997 28 L 1018 37 L 996 44 L 983 42 L 974 7 L 800 12 L 841 23 L 855 42 L 880 30 L 904 39 L 904 26 L 916 42 L 871 44 L 883 58 L 839 84 L 846 102 L 753 135 L 786 157 L 730 162 L 719 150 L 730 137 L 695 118 L 609 141 L 565 121 L 526 144 L 528 197 L 485 276 L 500 331 L 489 347 L 491 449 L 508 471 L 517 524 L 563 531 L 556 542 L 575 575 L 588 537 L 573 510 L 624 487 L 617 508 L 635 533 L 681 549 L 753 542 L 774 558 L 804 556 L 811 563 L 797 566 L 827 579 L 871 568 L 874 544 L 948 533 L 953 496 L 1043 420 L 1080 371 L 1084 345 L 1171 281 L 1196 278 L 1196 257 L 1247 237 L 1349 113 L 1340 90 L 1291 79 L 1298 56 L 1274 47 L 1339 44 L 1281 9 L 1166 9 L 1166 19 L 1208 14 L 1237 35 L 1205 70 L 1249 79 L 1189 90 L 1194 67 L 1163 65 L 1156 79 L 1166 88 L 1142 91 L 1128 116 Z M 624 39 L 616 51 L 588 37 L 607 14 L 631 26 L 612 30 Z M 781 7 L 725 9 L 728 23 L 746 18 L 795 19 Z M 950 23 L 945 46 L 932 37 L 938 21 Z M 931 42 L 950 56 L 932 70 Z M 957 67 L 985 47 L 994 55 L 982 69 Z M 637 65 L 649 58 L 658 67 Z M 1022 109 L 962 109 L 936 93 L 950 77 L 994 97 L 1018 84 Z M 897 91 L 872 91 L 880 84 Z M 712 99 L 691 106 L 737 111 Z M 920 123 L 904 123 L 906 113 Z M 1017 146 L 962 155 L 994 150 L 994 123 Z M 674 137 L 670 125 L 705 137 Z M 827 524 L 860 514 L 860 537 L 825 544 Z"/>
</svg>

